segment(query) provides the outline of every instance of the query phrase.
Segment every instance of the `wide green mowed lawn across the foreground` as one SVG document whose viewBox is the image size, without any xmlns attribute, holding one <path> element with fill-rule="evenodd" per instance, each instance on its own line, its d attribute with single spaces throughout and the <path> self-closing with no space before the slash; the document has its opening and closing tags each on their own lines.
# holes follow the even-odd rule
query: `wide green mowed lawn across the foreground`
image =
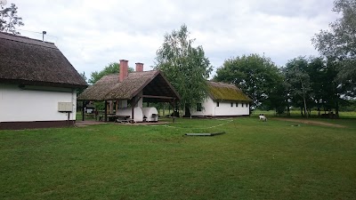
<svg viewBox="0 0 356 200">
<path fill-rule="evenodd" d="M 355 199 L 355 122 L 245 117 L 0 131 L 0 199 Z"/>
</svg>

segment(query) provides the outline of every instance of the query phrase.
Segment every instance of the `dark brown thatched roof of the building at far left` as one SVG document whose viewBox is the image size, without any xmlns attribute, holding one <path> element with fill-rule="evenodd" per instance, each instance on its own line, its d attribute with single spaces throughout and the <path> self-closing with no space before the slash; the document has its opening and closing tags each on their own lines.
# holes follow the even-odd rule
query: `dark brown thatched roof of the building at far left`
<svg viewBox="0 0 356 200">
<path fill-rule="evenodd" d="M 0 33 L 0 83 L 87 86 L 53 43 L 6 33 Z"/>
</svg>

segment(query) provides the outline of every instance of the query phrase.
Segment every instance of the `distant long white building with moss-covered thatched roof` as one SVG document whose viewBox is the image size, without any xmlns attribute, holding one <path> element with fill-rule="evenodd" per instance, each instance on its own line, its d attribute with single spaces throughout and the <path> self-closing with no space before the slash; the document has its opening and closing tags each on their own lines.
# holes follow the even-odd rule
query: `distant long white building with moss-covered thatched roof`
<svg viewBox="0 0 356 200">
<path fill-rule="evenodd" d="M 251 99 L 236 85 L 207 83 L 208 96 L 191 110 L 191 116 L 249 116 Z"/>
</svg>

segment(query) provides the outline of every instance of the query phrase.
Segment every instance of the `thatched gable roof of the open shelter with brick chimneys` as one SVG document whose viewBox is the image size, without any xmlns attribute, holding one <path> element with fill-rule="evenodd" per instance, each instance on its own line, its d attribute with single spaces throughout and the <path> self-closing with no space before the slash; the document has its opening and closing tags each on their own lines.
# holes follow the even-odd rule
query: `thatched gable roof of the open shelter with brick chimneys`
<svg viewBox="0 0 356 200">
<path fill-rule="evenodd" d="M 78 100 L 131 100 L 139 92 L 143 95 L 180 97 L 160 71 L 132 72 L 119 82 L 118 75 L 103 76 L 78 96 Z M 147 99 L 147 98 L 146 98 Z"/>
</svg>

